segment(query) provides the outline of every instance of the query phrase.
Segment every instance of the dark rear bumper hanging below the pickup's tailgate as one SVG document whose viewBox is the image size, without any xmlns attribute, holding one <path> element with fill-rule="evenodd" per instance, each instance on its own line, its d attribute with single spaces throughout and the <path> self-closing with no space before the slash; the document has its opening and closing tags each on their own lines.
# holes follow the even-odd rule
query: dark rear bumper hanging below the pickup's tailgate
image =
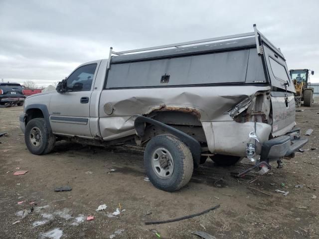
<svg viewBox="0 0 319 239">
<path fill-rule="evenodd" d="M 308 138 L 300 137 L 300 129 L 295 129 L 286 135 L 267 140 L 262 145 L 261 161 L 279 160 L 282 157 L 292 155 L 303 147 Z"/>
</svg>

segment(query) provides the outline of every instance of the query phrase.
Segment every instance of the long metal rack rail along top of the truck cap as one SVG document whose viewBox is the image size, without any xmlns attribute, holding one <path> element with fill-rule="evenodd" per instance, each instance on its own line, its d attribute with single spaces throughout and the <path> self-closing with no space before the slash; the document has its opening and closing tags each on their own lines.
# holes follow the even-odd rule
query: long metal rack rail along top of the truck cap
<svg viewBox="0 0 319 239">
<path fill-rule="evenodd" d="M 248 33 L 242 33 L 242 34 L 236 34 L 236 35 L 228 35 L 228 36 L 207 38 L 207 39 L 202 39 L 202 40 L 179 42 L 179 43 L 168 44 L 168 45 L 153 46 L 153 47 L 147 47 L 147 48 L 139 48 L 139 49 L 128 50 L 128 51 L 119 51 L 119 52 L 112 51 L 112 53 L 116 54 L 116 55 L 122 55 L 122 54 L 127 54 L 127 53 L 141 52 L 141 51 L 150 51 L 150 50 L 157 50 L 157 49 L 163 49 L 163 48 L 169 48 L 169 47 L 180 48 L 180 46 L 184 46 L 184 45 L 191 45 L 191 44 L 204 43 L 204 42 L 210 42 L 210 41 L 218 41 L 218 40 L 226 40 L 226 39 L 232 39 L 232 38 L 241 38 L 241 37 L 247 37 L 247 36 L 254 36 L 254 34 L 255 34 L 254 32 L 248 32 Z"/>
</svg>

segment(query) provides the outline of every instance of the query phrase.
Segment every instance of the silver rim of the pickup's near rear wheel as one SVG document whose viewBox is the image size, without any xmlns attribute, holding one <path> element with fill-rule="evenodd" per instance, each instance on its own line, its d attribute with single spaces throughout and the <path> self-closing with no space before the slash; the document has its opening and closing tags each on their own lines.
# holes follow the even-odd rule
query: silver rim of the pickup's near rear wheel
<svg viewBox="0 0 319 239">
<path fill-rule="evenodd" d="M 170 178 L 174 171 L 174 161 L 170 152 L 165 148 L 158 148 L 152 156 L 152 168 L 162 179 Z"/>
</svg>

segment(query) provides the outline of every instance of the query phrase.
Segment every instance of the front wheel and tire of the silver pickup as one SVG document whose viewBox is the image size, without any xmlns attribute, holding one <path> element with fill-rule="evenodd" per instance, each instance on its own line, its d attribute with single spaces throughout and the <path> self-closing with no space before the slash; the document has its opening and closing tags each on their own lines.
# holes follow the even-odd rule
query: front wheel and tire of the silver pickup
<svg viewBox="0 0 319 239">
<path fill-rule="evenodd" d="M 32 154 L 46 154 L 51 152 L 55 145 L 55 135 L 50 133 L 43 118 L 35 118 L 25 126 L 24 142 Z"/>
</svg>

